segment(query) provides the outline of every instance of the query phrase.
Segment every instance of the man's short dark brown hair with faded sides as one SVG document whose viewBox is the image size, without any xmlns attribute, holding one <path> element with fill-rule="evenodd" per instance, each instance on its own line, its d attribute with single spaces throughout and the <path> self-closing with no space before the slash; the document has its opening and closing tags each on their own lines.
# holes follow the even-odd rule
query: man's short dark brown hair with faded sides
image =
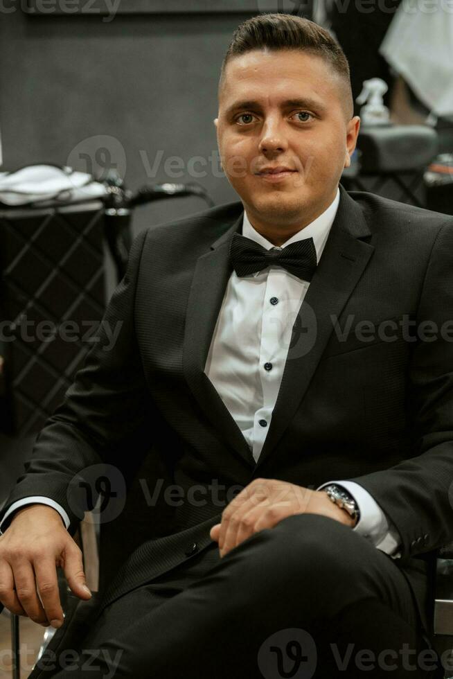
<svg viewBox="0 0 453 679">
<path fill-rule="evenodd" d="M 236 56 L 255 49 L 296 49 L 317 55 L 330 64 L 332 70 L 346 85 L 346 110 L 353 115 L 353 96 L 350 86 L 349 64 L 337 41 L 314 21 L 291 14 L 260 14 L 251 17 L 236 28 L 227 48 L 220 71 L 219 94 L 224 82 L 228 62 Z"/>
</svg>

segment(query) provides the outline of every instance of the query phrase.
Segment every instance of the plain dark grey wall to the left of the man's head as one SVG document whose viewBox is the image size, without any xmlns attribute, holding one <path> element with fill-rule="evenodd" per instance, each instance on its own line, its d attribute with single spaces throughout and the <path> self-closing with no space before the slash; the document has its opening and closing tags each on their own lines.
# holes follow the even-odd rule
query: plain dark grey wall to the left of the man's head
<svg viewBox="0 0 453 679">
<path fill-rule="evenodd" d="M 129 188 L 197 181 L 216 204 L 238 200 L 210 161 L 195 166 L 206 177 L 190 176 L 187 164 L 217 150 L 220 64 L 234 28 L 251 15 L 116 15 L 105 22 L 98 15 L 30 17 L 18 1 L 14 12 L 0 13 L 1 170 L 46 161 L 102 172 L 113 163 Z M 181 159 L 181 177 L 164 167 L 172 156 Z M 204 208 L 195 197 L 142 207 L 134 233 Z"/>
</svg>

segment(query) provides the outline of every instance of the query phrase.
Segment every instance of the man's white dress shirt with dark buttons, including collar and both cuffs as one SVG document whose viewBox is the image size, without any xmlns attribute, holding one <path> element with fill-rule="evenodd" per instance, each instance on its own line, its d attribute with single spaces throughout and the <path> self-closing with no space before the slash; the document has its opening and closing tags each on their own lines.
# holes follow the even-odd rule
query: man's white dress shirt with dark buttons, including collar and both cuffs
<svg viewBox="0 0 453 679">
<path fill-rule="evenodd" d="M 323 252 L 337 213 L 339 189 L 330 206 L 317 219 L 289 238 L 282 247 L 303 238 L 313 238 L 317 261 Z M 242 236 L 266 249 L 275 247 L 261 236 L 244 213 Z M 301 281 L 278 265 L 239 277 L 232 272 L 211 340 L 204 372 L 213 383 L 245 437 L 252 455 L 260 456 L 280 389 L 294 319 L 310 283 Z M 377 549 L 398 558 L 400 536 L 373 497 L 352 481 L 330 481 L 343 486 L 359 506 L 354 531 L 371 540 Z M 48 497 L 24 497 L 14 502 L 0 524 L 16 509 L 31 502 L 48 504 L 60 512 L 69 527 L 64 509 Z"/>
</svg>

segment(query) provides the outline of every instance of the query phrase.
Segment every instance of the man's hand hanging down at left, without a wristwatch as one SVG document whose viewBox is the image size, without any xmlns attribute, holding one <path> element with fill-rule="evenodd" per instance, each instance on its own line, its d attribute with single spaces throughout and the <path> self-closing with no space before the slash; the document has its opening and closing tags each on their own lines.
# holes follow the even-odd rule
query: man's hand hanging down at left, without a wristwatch
<svg viewBox="0 0 453 679">
<path fill-rule="evenodd" d="M 60 514 L 45 504 L 19 509 L 0 536 L 1 603 L 12 613 L 28 616 L 44 627 L 62 626 L 57 566 L 62 566 L 77 597 L 91 597 L 85 585 L 82 552 L 66 531 Z"/>
</svg>

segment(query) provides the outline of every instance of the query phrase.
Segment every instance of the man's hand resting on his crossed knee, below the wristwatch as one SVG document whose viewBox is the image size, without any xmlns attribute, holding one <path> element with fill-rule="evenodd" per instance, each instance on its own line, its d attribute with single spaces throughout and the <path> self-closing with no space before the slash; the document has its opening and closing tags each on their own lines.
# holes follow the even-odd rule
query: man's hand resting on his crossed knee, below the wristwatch
<svg viewBox="0 0 453 679">
<path fill-rule="evenodd" d="M 222 522 L 211 528 L 211 539 L 219 543 L 220 556 L 225 556 L 254 533 L 273 528 L 287 516 L 304 513 L 330 516 L 351 528 L 355 525 L 325 491 L 276 479 L 254 479 L 224 509 Z"/>
</svg>

